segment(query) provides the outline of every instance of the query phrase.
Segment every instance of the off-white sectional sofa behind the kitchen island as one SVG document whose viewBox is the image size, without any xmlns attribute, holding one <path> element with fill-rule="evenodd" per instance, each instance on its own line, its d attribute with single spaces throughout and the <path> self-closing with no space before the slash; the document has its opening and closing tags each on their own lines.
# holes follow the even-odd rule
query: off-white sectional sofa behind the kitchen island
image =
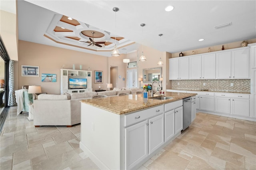
<svg viewBox="0 0 256 170">
<path fill-rule="evenodd" d="M 80 100 L 90 99 L 97 94 L 117 96 L 119 93 L 134 94 L 140 88 L 114 89 L 104 92 L 84 92 L 72 94 L 40 94 L 34 100 L 34 126 L 67 126 L 81 123 Z"/>
</svg>

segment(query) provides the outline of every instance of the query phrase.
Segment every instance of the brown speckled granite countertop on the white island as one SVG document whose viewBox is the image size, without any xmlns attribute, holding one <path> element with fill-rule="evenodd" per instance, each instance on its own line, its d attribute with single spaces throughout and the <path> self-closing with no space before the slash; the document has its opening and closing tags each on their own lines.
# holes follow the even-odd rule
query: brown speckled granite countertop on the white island
<svg viewBox="0 0 256 170">
<path fill-rule="evenodd" d="M 166 96 L 172 97 L 172 99 L 157 100 L 154 99 L 154 97 L 157 97 L 158 95 L 154 95 L 153 98 L 143 98 L 143 94 L 130 94 L 127 96 L 80 100 L 80 102 L 90 104 L 115 114 L 126 114 L 195 95 L 196 93 L 166 92 Z"/>
</svg>

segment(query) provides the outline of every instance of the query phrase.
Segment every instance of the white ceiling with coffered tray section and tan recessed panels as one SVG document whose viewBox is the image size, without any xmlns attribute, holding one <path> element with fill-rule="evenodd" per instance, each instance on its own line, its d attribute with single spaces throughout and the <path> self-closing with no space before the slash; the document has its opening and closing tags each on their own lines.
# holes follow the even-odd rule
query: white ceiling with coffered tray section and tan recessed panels
<svg viewBox="0 0 256 170">
<path fill-rule="evenodd" d="M 17 2 L 20 40 L 102 56 L 111 56 L 115 36 L 123 54 L 138 50 L 140 44 L 174 53 L 256 38 L 255 0 Z M 174 10 L 166 12 L 168 5 Z M 116 20 L 113 7 L 119 8 Z M 228 22 L 231 26 L 214 28 Z M 143 30 L 141 23 L 146 24 Z M 88 46 L 92 32 L 95 42 L 105 42 L 102 47 Z M 201 38 L 204 41 L 198 41 Z"/>
</svg>

